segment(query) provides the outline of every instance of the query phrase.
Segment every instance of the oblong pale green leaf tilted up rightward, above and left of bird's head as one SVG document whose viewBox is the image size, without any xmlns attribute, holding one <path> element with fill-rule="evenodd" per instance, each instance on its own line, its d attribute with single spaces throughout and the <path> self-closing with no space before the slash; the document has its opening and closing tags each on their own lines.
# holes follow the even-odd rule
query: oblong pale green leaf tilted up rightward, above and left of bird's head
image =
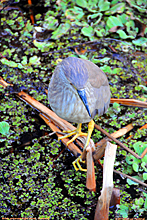
<svg viewBox="0 0 147 220">
<path fill-rule="evenodd" d="M 58 39 L 70 29 L 70 24 L 65 23 L 65 24 L 60 24 L 59 27 L 52 33 L 52 39 Z"/>
</svg>

